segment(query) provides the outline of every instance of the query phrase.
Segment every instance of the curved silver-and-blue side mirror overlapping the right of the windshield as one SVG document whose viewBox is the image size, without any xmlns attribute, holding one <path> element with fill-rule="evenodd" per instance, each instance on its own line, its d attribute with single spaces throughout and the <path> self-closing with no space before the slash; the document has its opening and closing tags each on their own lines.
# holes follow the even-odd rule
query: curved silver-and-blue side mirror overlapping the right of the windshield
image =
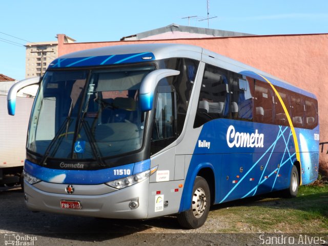
<svg viewBox="0 0 328 246">
<path fill-rule="evenodd" d="M 180 71 L 172 69 L 158 69 L 150 72 L 142 80 L 140 86 L 140 108 L 141 111 L 149 111 L 153 108 L 155 88 L 162 78 L 179 75 Z"/>
</svg>

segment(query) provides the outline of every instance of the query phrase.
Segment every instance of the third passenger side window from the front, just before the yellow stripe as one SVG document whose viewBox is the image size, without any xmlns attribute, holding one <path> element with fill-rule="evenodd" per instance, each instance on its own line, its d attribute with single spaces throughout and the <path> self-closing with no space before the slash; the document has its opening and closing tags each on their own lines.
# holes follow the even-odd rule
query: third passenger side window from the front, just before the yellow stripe
<svg viewBox="0 0 328 246">
<path fill-rule="evenodd" d="M 255 81 L 255 121 L 273 124 L 274 94 L 268 83 Z"/>
</svg>

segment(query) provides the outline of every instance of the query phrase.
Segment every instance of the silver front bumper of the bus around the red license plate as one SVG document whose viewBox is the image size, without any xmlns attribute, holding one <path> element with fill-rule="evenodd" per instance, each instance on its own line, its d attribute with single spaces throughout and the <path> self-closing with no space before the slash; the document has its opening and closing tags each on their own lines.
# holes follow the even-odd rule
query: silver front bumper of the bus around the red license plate
<svg viewBox="0 0 328 246">
<path fill-rule="evenodd" d="M 149 178 L 121 190 L 105 184 L 73 186 L 74 192 L 67 194 L 68 185 L 43 181 L 30 185 L 24 181 L 26 205 L 31 211 L 58 214 L 117 219 L 147 218 Z M 81 208 L 63 209 L 61 201 L 79 202 Z"/>
</svg>

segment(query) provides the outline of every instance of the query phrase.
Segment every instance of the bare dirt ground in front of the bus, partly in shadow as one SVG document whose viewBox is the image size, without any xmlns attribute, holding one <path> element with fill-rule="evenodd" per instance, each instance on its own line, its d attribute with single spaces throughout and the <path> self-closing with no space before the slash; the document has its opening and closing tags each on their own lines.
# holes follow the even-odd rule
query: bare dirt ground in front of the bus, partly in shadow
<svg viewBox="0 0 328 246">
<path fill-rule="evenodd" d="M 183 230 L 175 216 L 141 221 L 32 213 L 25 207 L 22 190 L 0 188 L 0 245 L 9 234 L 20 235 L 20 245 L 262 245 L 262 234 L 252 228 L 215 233 L 236 222 L 222 221 L 221 209 L 229 208 L 214 207 L 204 226 Z M 34 237 L 37 240 L 31 240 Z M 33 244 L 26 244 L 28 240 Z"/>
</svg>

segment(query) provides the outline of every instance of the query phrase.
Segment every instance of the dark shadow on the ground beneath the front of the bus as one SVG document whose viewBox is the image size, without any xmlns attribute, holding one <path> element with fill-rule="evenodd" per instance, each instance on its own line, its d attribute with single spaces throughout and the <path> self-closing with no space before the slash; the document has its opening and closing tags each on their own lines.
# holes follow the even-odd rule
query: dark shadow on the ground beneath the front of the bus
<svg viewBox="0 0 328 246">
<path fill-rule="evenodd" d="M 105 219 L 51 213 L 33 213 L 22 189 L 0 191 L 0 232 L 15 232 L 58 239 L 104 241 L 138 233 L 181 229 L 173 216 L 149 220 Z"/>
</svg>

